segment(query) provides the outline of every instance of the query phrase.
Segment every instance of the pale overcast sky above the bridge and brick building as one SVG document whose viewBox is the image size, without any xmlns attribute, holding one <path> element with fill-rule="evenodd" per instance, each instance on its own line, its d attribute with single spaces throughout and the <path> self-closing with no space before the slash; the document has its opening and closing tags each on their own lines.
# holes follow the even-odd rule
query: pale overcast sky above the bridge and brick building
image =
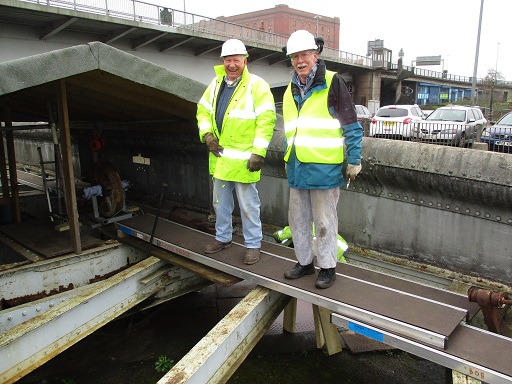
<svg viewBox="0 0 512 384">
<path fill-rule="evenodd" d="M 442 65 L 422 68 L 473 76 L 480 8 L 483 1 L 477 77 L 490 69 L 512 81 L 512 0 L 356 0 L 356 1 L 206 1 L 145 0 L 211 18 L 274 8 L 290 8 L 340 18 L 340 50 L 365 56 L 368 41 L 380 39 L 393 51 L 392 61 L 404 51 L 403 64 L 418 56 L 441 56 Z"/>
</svg>

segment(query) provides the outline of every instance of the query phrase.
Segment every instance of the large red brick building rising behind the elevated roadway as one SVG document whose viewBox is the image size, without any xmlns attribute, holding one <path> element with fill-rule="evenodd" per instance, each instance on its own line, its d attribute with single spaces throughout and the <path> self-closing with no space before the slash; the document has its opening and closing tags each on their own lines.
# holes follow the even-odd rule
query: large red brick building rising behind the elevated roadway
<svg viewBox="0 0 512 384">
<path fill-rule="evenodd" d="M 305 29 L 315 36 L 323 36 L 326 48 L 339 50 L 340 46 L 339 17 L 299 11 L 288 7 L 286 4 L 278 4 L 274 8 L 235 16 L 218 17 L 217 19 L 286 37 L 294 31 Z"/>
</svg>

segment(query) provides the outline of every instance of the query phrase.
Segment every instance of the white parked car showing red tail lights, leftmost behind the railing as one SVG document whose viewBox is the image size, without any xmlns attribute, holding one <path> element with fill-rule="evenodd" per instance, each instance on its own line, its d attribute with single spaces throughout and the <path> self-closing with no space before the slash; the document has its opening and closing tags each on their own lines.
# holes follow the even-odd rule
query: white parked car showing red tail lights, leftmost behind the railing
<svg viewBox="0 0 512 384">
<path fill-rule="evenodd" d="M 425 115 L 414 105 L 386 105 L 380 107 L 370 124 L 369 136 L 388 139 L 410 139 L 413 127 L 421 123 Z M 418 129 L 416 129 L 416 132 Z"/>
</svg>

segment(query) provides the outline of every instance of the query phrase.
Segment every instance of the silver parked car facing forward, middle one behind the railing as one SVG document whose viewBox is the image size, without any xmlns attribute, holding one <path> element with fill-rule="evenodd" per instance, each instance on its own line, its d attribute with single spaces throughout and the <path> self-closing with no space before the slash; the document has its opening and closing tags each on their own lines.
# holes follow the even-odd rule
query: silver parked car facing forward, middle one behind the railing
<svg viewBox="0 0 512 384">
<path fill-rule="evenodd" d="M 420 139 L 467 147 L 480 140 L 486 124 L 487 120 L 479 107 L 440 107 L 428 115 L 421 124 Z"/>
</svg>

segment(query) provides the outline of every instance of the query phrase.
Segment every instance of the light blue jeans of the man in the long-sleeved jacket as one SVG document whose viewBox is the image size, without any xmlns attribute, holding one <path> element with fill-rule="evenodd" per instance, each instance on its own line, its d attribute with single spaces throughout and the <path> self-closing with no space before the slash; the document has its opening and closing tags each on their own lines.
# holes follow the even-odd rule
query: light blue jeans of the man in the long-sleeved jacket
<svg viewBox="0 0 512 384">
<path fill-rule="evenodd" d="M 237 183 L 213 179 L 213 208 L 215 209 L 215 239 L 226 243 L 233 237 L 233 209 L 236 192 L 242 229 L 247 248 L 260 248 L 263 234 L 260 219 L 260 197 L 256 183 Z"/>
</svg>

